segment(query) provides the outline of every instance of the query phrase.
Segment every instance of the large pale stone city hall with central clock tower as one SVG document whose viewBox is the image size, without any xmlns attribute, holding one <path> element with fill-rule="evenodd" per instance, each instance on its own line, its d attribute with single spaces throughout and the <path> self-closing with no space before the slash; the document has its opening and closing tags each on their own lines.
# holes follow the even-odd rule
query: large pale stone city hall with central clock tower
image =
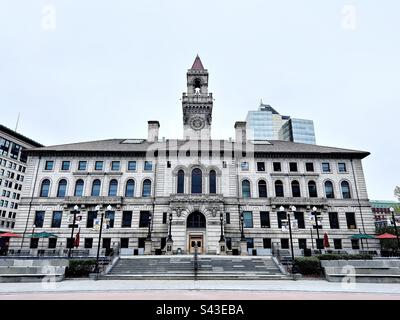
<svg viewBox="0 0 400 320">
<path fill-rule="evenodd" d="M 197 56 L 182 96 L 182 139 L 160 139 L 159 122 L 149 121 L 147 139 L 30 149 L 14 228 L 23 237 L 12 247 L 62 250 L 79 232 L 75 249 L 95 254 L 103 218 L 103 251 L 265 254 L 289 249 L 290 213 L 296 252 L 321 248 L 325 233 L 331 250 L 361 249 L 350 237 L 374 233 L 362 168 L 369 153 L 251 140 L 240 121 L 235 139 L 213 140 L 208 81 Z M 29 237 L 42 231 L 57 237 Z"/>
</svg>

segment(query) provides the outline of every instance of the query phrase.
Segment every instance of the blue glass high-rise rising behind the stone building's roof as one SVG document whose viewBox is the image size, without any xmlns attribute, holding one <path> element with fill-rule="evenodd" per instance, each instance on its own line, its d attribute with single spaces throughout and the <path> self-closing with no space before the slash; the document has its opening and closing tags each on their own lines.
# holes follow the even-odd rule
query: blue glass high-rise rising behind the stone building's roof
<svg viewBox="0 0 400 320">
<path fill-rule="evenodd" d="M 260 103 L 257 111 L 249 111 L 247 130 L 253 140 L 285 140 L 315 144 L 312 120 L 295 119 L 280 115 L 270 105 Z"/>
</svg>

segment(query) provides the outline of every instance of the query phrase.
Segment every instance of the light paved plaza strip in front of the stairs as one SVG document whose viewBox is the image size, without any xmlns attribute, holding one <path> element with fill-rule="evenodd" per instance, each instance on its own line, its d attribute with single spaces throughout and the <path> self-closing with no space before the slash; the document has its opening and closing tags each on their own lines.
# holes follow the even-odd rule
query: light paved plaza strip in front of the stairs
<svg viewBox="0 0 400 320">
<path fill-rule="evenodd" d="M 325 280 L 66 280 L 44 284 L 2 283 L 0 298 L 3 300 L 400 300 L 400 285 L 342 284 Z"/>
</svg>

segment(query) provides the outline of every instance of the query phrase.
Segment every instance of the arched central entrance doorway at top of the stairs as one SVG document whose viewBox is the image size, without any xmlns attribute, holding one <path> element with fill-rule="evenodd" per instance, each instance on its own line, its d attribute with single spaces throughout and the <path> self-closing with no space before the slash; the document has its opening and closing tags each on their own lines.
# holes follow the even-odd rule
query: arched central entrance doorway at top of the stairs
<svg viewBox="0 0 400 320">
<path fill-rule="evenodd" d="M 186 230 L 188 239 L 188 252 L 194 253 L 197 246 L 197 252 L 204 252 L 204 238 L 206 231 L 206 218 L 199 212 L 194 211 L 186 219 Z"/>
</svg>

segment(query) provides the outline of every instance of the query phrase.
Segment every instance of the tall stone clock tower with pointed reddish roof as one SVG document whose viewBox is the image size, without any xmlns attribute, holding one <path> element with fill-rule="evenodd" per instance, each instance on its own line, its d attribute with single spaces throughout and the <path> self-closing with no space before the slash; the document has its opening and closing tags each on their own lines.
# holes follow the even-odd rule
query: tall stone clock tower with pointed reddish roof
<svg viewBox="0 0 400 320">
<path fill-rule="evenodd" d="M 211 139 L 213 98 L 208 93 L 208 71 L 197 55 L 187 72 L 187 91 L 182 95 L 184 139 Z"/>
</svg>

